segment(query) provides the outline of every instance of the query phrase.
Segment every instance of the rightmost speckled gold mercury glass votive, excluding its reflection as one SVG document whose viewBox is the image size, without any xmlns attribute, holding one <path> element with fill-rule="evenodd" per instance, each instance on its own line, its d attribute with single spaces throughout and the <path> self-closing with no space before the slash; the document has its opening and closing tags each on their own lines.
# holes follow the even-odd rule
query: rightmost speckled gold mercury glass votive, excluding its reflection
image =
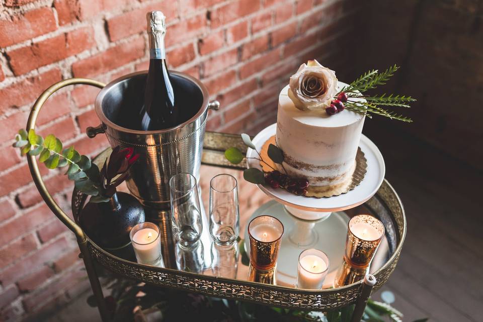
<svg viewBox="0 0 483 322">
<path fill-rule="evenodd" d="M 356 268 L 367 268 L 376 253 L 384 225 L 371 215 L 357 215 L 349 220 L 345 261 Z"/>
</svg>

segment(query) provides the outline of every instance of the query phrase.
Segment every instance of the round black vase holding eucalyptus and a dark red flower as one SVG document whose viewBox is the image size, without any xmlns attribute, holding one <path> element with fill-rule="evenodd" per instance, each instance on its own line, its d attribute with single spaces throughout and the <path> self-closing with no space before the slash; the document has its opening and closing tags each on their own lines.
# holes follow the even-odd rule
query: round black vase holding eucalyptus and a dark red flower
<svg viewBox="0 0 483 322">
<path fill-rule="evenodd" d="M 125 192 L 116 192 L 108 202 L 89 202 L 79 215 L 79 223 L 94 243 L 105 250 L 129 245 L 129 232 L 144 222 L 139 201 Z"/>
</svg>

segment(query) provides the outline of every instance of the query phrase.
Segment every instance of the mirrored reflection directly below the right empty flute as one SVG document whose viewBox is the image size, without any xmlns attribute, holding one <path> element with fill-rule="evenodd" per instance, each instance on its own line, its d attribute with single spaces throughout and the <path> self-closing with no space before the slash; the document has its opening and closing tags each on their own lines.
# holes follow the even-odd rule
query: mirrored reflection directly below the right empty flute
<svg viewBox="0 0 483 322">
<path fill-rule="evenodd" d="M 238 244 L 211 243 L 211 274 L 216 277 L 236 278 L 238 270 Z"/>
</svg>

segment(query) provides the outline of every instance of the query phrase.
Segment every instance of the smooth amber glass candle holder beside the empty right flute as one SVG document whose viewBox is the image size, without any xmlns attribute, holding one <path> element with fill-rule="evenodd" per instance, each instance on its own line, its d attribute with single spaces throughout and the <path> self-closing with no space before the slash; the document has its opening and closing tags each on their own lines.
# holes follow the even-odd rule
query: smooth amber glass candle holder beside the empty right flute
<svg viewBox="0 0 483 322">
<path fill-rule="evenodd" d="M 248 224 L 250 263 L 257 270 L 268 271 L 277 264 L 283 224 L 272 216 L 258 216 Z"/>
</svg>

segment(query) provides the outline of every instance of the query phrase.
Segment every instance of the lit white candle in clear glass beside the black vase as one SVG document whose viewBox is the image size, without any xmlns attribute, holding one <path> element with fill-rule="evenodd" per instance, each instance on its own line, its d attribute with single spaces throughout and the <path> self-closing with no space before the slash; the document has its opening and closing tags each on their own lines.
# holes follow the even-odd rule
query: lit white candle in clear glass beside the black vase
<svg viewBox="0 0 483 322">
<path fill-rule="evenodd" d="M 152 222 L 135 225 L 129 233 L 131 244 L 140 264 L 164 266 L 161 256 L 161 238 L 159 227 Z"/>
</svg>

